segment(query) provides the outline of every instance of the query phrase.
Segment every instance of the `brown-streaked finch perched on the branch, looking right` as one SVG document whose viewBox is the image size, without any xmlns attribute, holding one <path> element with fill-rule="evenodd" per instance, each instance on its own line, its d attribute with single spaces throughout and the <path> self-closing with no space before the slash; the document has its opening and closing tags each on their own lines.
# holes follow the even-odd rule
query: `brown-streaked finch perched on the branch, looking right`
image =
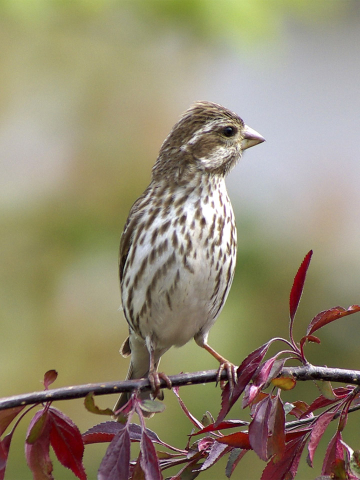
<svg viewBox="0 0 360 480">
<path fill-rule="evenodd" d="M 120 352 L 131 355 L 126 379 L 148 378 L 163 398 L 167 375 L 160 357 L 194 338 L 225 369 L 230 390 L 236 368 L 208 343 L 228 295 L 236 263 L 236 226 L 225 176 L 243 150 L 265 141 L 233 111 L 196 101 L 163 141 L 151 181 L 133 203 L 120 239 L 121 304 L 129 336 Z M 127 402 L 121 393 L 114 413 Z"/>
</svg>

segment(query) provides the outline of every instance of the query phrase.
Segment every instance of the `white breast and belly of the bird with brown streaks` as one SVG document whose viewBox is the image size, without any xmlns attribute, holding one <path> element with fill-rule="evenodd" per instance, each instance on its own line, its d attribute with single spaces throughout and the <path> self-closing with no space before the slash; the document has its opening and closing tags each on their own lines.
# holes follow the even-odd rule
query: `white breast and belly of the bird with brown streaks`
<svg viewBox="0 0 360 480">
<path fill-rule="evenodd" d="M 180 346 L 209 330 L 236 261 L 236 228 L 224 183 L 172 197 L 151 222 L 148 206 L 121 281 L 126 319 L 143 338 L 157 338 L 159 348 Z"/>
</svg>

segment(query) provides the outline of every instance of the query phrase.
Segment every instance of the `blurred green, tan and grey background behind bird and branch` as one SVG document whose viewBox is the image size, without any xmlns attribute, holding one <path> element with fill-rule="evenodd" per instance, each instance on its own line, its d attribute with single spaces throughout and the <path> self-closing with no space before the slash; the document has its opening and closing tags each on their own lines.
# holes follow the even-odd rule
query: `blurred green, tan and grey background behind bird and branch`
<svg viewBox="0 0 360 480">
<path fill-rule="evenodd" d="M 359 19 L 357 1 L 0 3 L 0 396 L 41 389 L 50 368 L 54 386 L 125 376 L 120 233 L 163 138 L 197 99 L 235 110 L 267 140 L 227 181 L 238 266 L 210 344 L 236 363 L 286 336 L 289 290 L 310 248 L 297 338 L 318 311 L 360 302 Z M 359 320 L 323 328 L 309 360 L 359 369 Z M 168 374 L 216 366 L 194 342 L 161 362 Z M 212 384 L 180 394 L 198 418 L 219 409 Z M 282 395 L 314 396 L 311 383 Z M 183 447 L 191 425 L 171 392 L 165 403 L 148 426 Z M 55 406 L 81 431 L 103 420 L 81 400 Z M 354 449 L 357 422 L 352 414 L 344 432 Z M 22 421 L 7 478 L 30 477 L 25 429 Z M 298 478 L 320 473 L 328 439 Z M 89 478 L 105 447 L 86 447 Z M 54 463 L 56 478 L 73 478 Z M 199 478 L 223 478 L 224 467 Z M 249 452 L 233 478 L 258 478 L 263 467 Z"/>
</svg>

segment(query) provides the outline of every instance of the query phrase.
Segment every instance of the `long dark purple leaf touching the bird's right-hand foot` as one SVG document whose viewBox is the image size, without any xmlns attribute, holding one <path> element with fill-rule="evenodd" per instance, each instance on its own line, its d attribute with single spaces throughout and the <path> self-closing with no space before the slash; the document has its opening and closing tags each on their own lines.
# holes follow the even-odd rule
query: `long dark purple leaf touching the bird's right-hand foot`
<svg viewBox="0 0 360 480">
<path fill-rule="evenodd" d="M 222 390 L 221 409 L 215 421 L 215 425 L 218 425 L 225 418 L 232 405 L 241 395 L 245 386 L 251 380 L 252 375 L 255 373 L 263 357 L 265 356 L 270 343 L 271 340 L 252 351 L 237 368 L 237 383 L 232 391 L 231 398 L 229 398 L 229 383 L 226 383 L 225 388 Z"/>
</svg>

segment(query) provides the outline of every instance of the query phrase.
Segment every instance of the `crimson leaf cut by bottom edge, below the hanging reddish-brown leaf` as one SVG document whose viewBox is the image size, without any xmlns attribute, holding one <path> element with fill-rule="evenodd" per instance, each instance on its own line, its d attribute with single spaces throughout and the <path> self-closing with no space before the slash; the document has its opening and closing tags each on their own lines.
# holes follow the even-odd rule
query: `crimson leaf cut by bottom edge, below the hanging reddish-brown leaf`
<svg viewBox="0 0 360 480">
<path fill-rule="evenodd" d="M 305 446 L 306 439 L 300 438 L 286 443 L 282 458 L 275 461 L 274 458 L 265 466 L 261 480 L 286 480 L 294 478 L 302 450 Z"/>
</svg>

